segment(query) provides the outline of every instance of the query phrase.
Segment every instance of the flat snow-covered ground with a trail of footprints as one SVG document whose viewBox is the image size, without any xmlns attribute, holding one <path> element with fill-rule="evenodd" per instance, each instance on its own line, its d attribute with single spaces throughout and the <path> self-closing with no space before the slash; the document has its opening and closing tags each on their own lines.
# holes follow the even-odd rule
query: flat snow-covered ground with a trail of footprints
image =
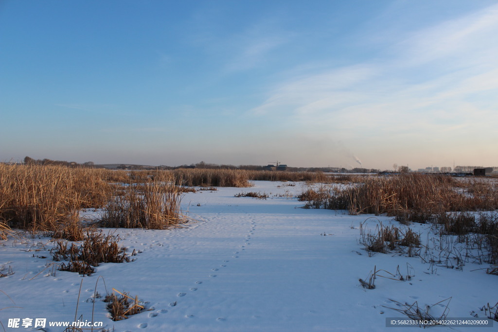
<svg viewBox="0 0 498 332">
<path fill-rule="evenodd" d="M 51 261 L 48 250 L 53 246 L 48 238 L 1 241 L 2 272 L 9 266 L 14 272 L 0 278 L 3 327 L 6 331 L 37 330 L 34 324 L 8 328 L 7 323 L 12 318 L 20 319 L 20 324 L 24 318 L 74 321 L 75 314 L 80 321 L 91 321 L 93 313 L 95 322 L 104 322 L 106 329 L 119 332 L 411 331 L 419 328 L 386 329 L 386 318 L 406 319 L 388 309 L 399 308 L 390 300 L 403 304 L 417 301 L 425 309 L 451 298 L 449 304 L 444 302 L 448 318 L 470 318 L 471 312 L 484 317 L 480 308 L 498 301 L 498 277 L 483 270 L 489 265 L 467 263 L 463 271 L 435 270 L 419 257 L 395 253 L 369 257 L 359 243 L 360 224 L 365 222 L 364 227 L 372 230 L 379 221 L 399 225 L 392 218 L 299 209 L 303 202 L 285 196 L 299 194 L 304 184 L 254 184 L 252 188 L 185 194 L 182 206 L 198 221 L 183 228 L 116 230 L 128 252 L 141 252 L 129 263 L 101 264 L 90 277 L 45 269 Z M 270 197 L 234 197 L 248 191 Z M 422 242 L 427 241 L 429 225 L 410 227 L 422 234 Z M 401 274 L 410 275 L 411 280 L 379 277 L 376 288 L 367 290 L 359 278 L 368 279 L 374 266 L 393 275 L 399 266 Z M 390 277 L 385 272 L 379 274 Z M 104 302 L 98 299 L 95 306 L 92 303 L 96 285 L 104 295 L 105 286 L 108 291 L 115 288 L 132 297 L 137 295 L 147 311 L 113 322 Z M 437 315 L 444 309 L 438 305 L 431 312 Z M 48 327 L 48 323 L 44 329 L 63 330 Z"/>
</svg>

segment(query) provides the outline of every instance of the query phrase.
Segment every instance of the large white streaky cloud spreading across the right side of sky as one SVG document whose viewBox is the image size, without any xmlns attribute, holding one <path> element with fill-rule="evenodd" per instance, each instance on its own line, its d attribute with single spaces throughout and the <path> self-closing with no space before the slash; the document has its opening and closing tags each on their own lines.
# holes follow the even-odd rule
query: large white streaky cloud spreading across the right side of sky
<svg viewBox="0 0 498 332">
<path fill-rule="evenodd" d="M 498 92 L 497 32 L 493 5 L 406 33 L 382 58 L 280 82 L 250 113 L 348 137 L 457 132 L 481 124 L 478 114 L 498 120 L 486 107 L 498 106 L 490 97 Z"/>
</svg>

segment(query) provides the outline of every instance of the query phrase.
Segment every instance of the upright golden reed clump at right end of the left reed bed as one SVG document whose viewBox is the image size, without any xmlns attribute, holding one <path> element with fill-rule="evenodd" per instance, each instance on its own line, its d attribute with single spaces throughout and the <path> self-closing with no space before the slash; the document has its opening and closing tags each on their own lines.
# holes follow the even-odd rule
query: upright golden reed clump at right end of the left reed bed
<svg viewBox="0 0 498 332">
<path fill-rule="evenodd" d="M 148 181 L 117 188 L 104 209 L 104 227 L 165 229 L 187 221 L 180 209 L 180 187 L 171 181 Z"/>
</svg>

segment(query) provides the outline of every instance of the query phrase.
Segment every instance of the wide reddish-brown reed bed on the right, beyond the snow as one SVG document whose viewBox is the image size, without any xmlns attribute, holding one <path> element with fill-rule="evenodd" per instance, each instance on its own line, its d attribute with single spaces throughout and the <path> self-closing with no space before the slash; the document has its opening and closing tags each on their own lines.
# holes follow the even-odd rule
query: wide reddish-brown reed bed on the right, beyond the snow
<svg viewBox="0 0 498 332">
<path fill-rule="evenodd" d="M 496 185 L 457 191 L 455 180 L 444 175 L 401 174 L 365 177 L 363 182 L 329 190 L 312 189 L 301 195 L 307 207 L 344 209 L 350 214 L 387 214 L 400 221 L 424 221 L 450 211 L 495 210 Z M 428 221 L 428 220 L 425 220 Z"/>
</svg>

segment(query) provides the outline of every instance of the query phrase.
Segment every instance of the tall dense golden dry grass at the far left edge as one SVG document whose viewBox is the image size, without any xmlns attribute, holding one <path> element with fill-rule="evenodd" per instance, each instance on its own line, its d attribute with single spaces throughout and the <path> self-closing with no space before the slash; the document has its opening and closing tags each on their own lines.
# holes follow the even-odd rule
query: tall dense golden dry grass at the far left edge
<svg viewBox="0 0 498 332">
<path fill-rule="evenodd" d="M 0 228 L 61 231 L 83 208 L 101 208 L 109 185 L 102 170 L 0 164 Z"/>
</svg>

